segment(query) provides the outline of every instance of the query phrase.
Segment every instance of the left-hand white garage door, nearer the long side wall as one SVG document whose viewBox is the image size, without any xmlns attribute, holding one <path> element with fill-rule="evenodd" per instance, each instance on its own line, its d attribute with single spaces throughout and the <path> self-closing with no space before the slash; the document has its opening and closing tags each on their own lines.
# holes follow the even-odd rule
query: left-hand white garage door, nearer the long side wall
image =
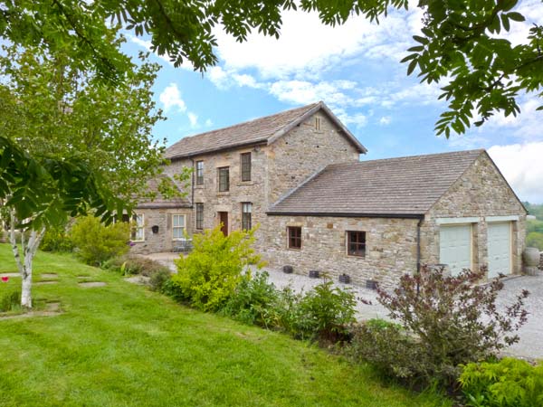
<svg viewBox="0 0 543 407">
<path fill-rule="evenodd" d="M 449 266 L 452 276 L 472 268 L 472 225 L 439 228 L 439 262 Z"/>
</svg>

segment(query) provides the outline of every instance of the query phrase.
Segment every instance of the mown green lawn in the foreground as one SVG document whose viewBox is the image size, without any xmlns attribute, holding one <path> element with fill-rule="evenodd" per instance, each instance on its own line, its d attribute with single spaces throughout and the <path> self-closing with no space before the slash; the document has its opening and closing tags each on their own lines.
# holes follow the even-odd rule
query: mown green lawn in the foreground
<svg viewBox="0 0 543 407">
<path fill-rule="evenodd" d="M 14 272 L 0 244 L 0 272 Z M 449 402 L 386 386 L 356 367 L 288 336 L 203 314 L 82 265 L 39 253 L 33 288 L 62 315 L 0 319 L 3 406 L 433 406 Z M 106 281 L 81 288 L 77 276 Z M 0 295 L 7 285 L 0 282 Z"/>
</svg>

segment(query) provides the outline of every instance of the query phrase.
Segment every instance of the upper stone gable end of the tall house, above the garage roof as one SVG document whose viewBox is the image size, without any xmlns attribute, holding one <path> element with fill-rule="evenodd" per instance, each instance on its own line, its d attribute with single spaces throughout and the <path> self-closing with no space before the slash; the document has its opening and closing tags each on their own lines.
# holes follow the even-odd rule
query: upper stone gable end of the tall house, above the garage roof
<svg viewBox="0 0 543 407">
<path fill-rule="evenodd" d="M 320 118 L 320 130 L 315 118 Z M 267 150 L 269 204 L 324 166 L 358 161 L 357 148 L 341 133 L 326 114 L 317 112 L 272 143 Z"/>
</svg>

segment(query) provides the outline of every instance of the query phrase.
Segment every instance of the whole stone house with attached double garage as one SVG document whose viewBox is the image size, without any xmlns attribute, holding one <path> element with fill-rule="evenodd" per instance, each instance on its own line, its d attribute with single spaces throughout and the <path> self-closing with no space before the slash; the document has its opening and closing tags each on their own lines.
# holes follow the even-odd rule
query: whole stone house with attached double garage
<svg viewBox="0 0 543 407">
<path fill-rule="evenodd" d="M 484 150 L 360 161 L 366 152 L 322 102 L 183 138 L 166 175 L 194 169 L 186 198 L 139 204 L 132 250 L 258 223 L 256 250 L 301 274 L 373 285 L 424 263 L 520 272 L 527 212 Z"/>
</svg>

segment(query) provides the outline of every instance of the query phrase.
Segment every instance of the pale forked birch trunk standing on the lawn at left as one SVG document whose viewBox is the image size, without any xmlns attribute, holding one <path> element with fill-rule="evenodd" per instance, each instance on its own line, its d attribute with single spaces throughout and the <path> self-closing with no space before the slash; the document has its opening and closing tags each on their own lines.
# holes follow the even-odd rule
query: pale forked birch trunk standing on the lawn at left
<svg viewBox="0 0 543 407">
<path fill-rule="evenodd" d="M 32 267 L 33 267 L 33 258 L 38 251 L 40 242 L 42 241 L 43 234 L 45 233 L 45 228 L 41 231 L 36 231 L 32 229 L 30 231 L 30 237 L 25 244 L 24 241 L 24 230 L 21 231 L 21 251 L 23 252 L 23 259 L 21 259 L 21 254 L 19 251 L 19 246 L 17 245 L 17 240 L 15 237 L 15 216 L 14 213 L 11 213 L 11 225 L 10 225 L 10 242 L 12 245 L 12 250 L 14 252 L 15 263 L 17 263 L 17 268 L 21 274 L 21 306 L 24 308 L 32 308 Z"/>
</svg>

